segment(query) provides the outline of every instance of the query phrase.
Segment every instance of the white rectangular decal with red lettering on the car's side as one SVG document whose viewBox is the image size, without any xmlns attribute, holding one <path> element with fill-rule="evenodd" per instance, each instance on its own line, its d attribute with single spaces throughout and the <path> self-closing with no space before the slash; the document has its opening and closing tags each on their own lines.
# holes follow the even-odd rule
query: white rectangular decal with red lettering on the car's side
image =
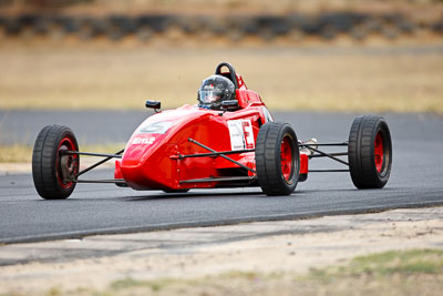
<svg viewBox="0 0 443 296">
<path fill-rule="evenodd" d="M 228 129 L 231 150 L 255 149 L 256 144 L 250 120 L 229 120 Z"/>
</svg>

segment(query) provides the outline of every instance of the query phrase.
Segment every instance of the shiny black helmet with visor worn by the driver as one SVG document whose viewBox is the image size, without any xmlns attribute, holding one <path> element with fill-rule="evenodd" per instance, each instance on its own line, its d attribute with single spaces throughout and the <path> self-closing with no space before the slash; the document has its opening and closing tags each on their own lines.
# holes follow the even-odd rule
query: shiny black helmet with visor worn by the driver
<svg viewBox="0 0 443 296">
<path fill-rule="evenodd" d="M 198 89 L 197 100 L 199 108 L 220 110 L 223 101 L 235 100 L 235 85 L 223 75 L 208 76 Z"/>
</svg>

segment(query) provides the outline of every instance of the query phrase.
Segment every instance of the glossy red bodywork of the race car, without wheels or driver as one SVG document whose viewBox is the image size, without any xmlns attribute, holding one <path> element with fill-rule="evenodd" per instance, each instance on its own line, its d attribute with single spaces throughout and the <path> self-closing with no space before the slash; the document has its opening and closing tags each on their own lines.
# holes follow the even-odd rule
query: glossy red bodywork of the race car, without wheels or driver
<svg viewBox="0 0 443 296">
<path fill-rule="evenodd" d="M 134 190 L 185 190 L 256 185 L 254 182 L 219 182 L 202 178 L 254 176 L 254 173 L 220 156 L 181 157 L 208 153 L 193 139 L 217 152 L 254 150 L 260 126 L 274 121 L 260 96 L 248 90 L 240 75 L 236 111 L 215 111 L 184 105 L 146 119 L 133 133 L 122 160 L 115 162 L 115 178 Z M 308 172 L 308 157 L 300 154 L 300 173 Z M 255 152 L 228 155 L 253 170 Z M 189 182 L 198 180 L 196 182 Z"/>
</svg>

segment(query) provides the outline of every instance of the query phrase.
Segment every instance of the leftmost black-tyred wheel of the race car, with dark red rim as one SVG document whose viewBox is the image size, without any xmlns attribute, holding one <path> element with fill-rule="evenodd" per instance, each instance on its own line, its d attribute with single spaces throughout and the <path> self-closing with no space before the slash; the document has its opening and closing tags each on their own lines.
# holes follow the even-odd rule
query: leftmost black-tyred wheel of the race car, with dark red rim
<svg viewBox="0 0 443 296">
<path fill-rule="evenodd" d="M 71 129 L 47 125 L 37 136 L 32 153 L 32 177 L 39 195 L 45 200 L 68 198 L 75 187 L 79 155 L 62 155 L 61 151 L 79 151 Z"/>
</svg>

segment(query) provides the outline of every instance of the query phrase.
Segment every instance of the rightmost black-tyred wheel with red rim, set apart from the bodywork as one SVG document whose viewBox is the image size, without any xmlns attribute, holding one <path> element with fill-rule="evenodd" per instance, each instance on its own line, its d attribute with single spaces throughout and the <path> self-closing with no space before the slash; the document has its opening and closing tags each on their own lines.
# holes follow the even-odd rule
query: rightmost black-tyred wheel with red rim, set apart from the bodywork
<svg viewBox="0 0 443 296">
<path fill-rule="evenodd" d="M 349 133 L 349 170 L 358 188 L 382 188 L 392 165 L 392 142 L 381 116 L 357 118 Z"/>
</svg>

